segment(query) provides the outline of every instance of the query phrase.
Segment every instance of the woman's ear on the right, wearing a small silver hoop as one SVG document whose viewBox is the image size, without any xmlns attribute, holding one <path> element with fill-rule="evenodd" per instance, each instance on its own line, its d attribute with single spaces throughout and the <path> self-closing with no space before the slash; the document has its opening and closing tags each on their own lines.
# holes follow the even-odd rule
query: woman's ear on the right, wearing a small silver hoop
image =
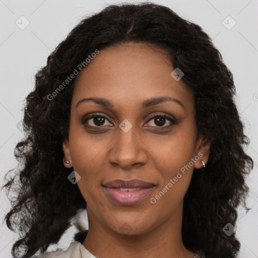
<svg viewBox="0 0 258 258">
<path fill-rule="evenodd" d="M 196 146 L 196 155 L 198 155 L 200 159 L 197 162 L 195 162 L 194 168 L 202 168 L 204 166 L 202 160 L 205 164 L 207 164 L 210 155 L 210 147 L 211 144 L 208 141 L 208 139 L 205 136 L 201 135 L 197 141 Z"/>
</svg>

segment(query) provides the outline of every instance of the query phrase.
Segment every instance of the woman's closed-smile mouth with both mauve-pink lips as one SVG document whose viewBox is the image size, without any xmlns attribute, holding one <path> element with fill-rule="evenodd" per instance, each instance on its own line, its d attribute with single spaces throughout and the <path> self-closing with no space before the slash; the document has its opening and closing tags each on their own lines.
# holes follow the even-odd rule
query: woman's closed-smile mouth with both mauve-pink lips
<svg viewBox="0 0 258 258">
<path fill-rule="evenodd" d="M 114 180 L 103 183 L 105 193 L 109 199 L 122 206 L 137 204 L 147 198 L 155 185 L 142 180 Z"/>
</svg>

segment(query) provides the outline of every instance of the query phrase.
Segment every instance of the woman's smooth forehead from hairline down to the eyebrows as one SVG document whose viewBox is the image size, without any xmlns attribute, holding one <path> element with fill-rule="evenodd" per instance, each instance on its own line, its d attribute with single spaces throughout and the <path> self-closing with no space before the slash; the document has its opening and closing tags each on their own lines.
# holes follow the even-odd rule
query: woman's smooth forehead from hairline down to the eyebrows
<svg viewBox="0 0 258 258">
<path fill-rule="evenodd" d="M 77 76 L 73 102 L 95 96 L 133 104 L 158 95 L 193 101 L 190 88 L 171 77 L 174 69 L 168 54 L 150 43 L 107 47 Z"/>
</svg>

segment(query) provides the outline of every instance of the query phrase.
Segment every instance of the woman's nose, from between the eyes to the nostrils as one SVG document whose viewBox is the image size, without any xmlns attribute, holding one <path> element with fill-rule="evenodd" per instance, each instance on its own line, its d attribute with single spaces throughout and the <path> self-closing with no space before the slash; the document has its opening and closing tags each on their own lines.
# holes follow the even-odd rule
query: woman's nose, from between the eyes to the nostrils
<svg viewBox="0 0 258 258">
<path fill-rule="evenodd" d="M 143 136 L 134 126 L 126 133 L 118 127 L 117 135 L 110 144 L 109 163 L 123 169 L 131 169 L 133 166 L 146 164 L 147 160 L 148 147 Z"/>
</svg>

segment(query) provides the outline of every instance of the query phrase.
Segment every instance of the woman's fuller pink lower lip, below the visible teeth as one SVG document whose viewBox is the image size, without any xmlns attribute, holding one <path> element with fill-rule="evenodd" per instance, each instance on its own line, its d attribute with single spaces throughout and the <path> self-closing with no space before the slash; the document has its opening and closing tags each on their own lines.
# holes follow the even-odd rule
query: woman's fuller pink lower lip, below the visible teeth
<svg viewBox="0 0 258 258">
<path fill-rule="evenodd" d="M 117 204 L 129 206 L 137 204 L 143 199 L 145 199 L 150 192 L 153 190 L 154 186 L 148 188 L 142 188 L 136 191 L 120 191 L 116 188 L 105 187 L 105 191 L 108 197 L 116 202 Z"/>
</svg>

